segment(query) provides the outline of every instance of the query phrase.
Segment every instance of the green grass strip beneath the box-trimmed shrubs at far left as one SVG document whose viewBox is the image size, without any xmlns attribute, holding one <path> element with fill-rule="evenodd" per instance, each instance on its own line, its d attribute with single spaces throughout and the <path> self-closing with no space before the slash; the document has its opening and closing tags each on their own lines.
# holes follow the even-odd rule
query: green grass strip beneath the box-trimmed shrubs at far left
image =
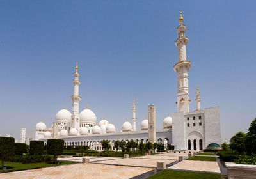
<svg viewBox="0 0 256 179">
<path fill-rule="evenodd" d="M 68 162 L 68 161 L 60 161 L 60 164 L 52 164 L 52 163 L 33 163 L 33 164 L 21 164 L 17 162 L 4 162 L 4 166 L 7 167 L 6 170 L 0 169 L 0 173 L 10 172 L 10 171 L 19 171 L 24 169 L 36 169 L 40 167 L 50 167 L 50 166 L 61 166 L 67 164 L 76 164 L 77 162 Z"/>
</svg>

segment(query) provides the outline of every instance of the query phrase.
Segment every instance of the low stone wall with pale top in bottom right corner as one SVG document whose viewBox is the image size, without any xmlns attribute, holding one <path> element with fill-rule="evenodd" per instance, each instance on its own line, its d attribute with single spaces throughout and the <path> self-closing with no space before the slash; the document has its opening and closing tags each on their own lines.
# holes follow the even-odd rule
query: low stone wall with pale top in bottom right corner
<svg viewBox="0 0 256 179">
<path fill-rule="evenodd" d="M 256 178 L 256 165 L 226 164 L 228 179 Z"/>
</svg>

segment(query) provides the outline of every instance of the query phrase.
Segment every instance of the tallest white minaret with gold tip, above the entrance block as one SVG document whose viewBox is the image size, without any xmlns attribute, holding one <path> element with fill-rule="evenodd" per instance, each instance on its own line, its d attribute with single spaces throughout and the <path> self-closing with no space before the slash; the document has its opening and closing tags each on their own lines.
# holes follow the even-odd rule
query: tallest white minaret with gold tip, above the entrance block
<svg viewBox="0 0 256 179">
<path fill-rule="evenodd" d="M 188 70 L 191 67 L 190 61 L 186 57 L 186 45 L 188 37 L 185 36 L 186 26 L 182 24 L 183 17 L 180 11 L 180 25 L 177 27 L 177 38 L 175 45 L 178 48 L 178 62 L 173 66 L 174 71 L 177 73 L 178 90 L 177 90 L 177 111 L 189 112 L 189 93 L 188 93 Z"/>
</svg>

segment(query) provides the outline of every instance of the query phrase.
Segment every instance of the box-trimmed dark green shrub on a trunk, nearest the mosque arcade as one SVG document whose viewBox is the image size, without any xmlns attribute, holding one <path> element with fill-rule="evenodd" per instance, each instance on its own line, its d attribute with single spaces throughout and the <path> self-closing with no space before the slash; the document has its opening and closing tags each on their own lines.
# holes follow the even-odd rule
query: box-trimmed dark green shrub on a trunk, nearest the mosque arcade
<svg viewBox="0 0 256 179">
<path fill-rule="evenodd" d="M 54 155 L 54 162 L 57 163 L 58 155 L 63 153 L 64 140 L 62 139 L 48 139 L 47 140 L 47 153 Z"/>
</svg>

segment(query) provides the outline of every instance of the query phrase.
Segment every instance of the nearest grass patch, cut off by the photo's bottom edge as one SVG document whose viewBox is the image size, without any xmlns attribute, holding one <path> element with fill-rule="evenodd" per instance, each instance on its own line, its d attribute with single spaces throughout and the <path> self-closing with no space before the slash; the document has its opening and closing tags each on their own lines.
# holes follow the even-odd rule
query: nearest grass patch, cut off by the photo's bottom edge
<svg viewBox="0 0 256 179">
<path fill-rule="evenodd" d="M 148 177 L 148 179 L 164 179 L 164 178 L 175 178 L 175 179 L 181 179 L 181 178 L 188 178 L 188 179 L 201 179 L 201 178 L 207 178 L 207 179 L 221 179 L 220 174 L 212 174 L 212 173 L 197 173 L 197 172 L 190 172 L 190 171 L 174 171 L 174 170 L 168 170 L 164 169 L 163 171 L 152 175 Z"/>
</svg>

